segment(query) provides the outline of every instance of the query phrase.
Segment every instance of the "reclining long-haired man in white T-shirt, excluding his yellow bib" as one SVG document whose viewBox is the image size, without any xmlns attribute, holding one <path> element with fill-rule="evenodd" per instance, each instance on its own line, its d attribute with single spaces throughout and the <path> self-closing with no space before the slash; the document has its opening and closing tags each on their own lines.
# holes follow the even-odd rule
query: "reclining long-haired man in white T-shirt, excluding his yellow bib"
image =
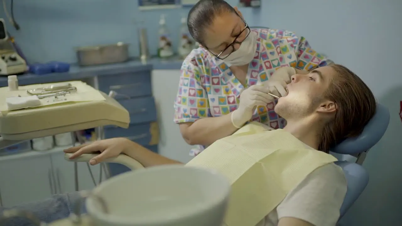
<svg viewBox="0 0 402 226">
<path fill-rule="evenodd" d="M 305 75 L 295 74 L 287 88 L 288 95 L 278 100 L 275 111 L 286 119 L 285 131 L 315 150 L 328 153 L 345 138 L 359 135 L 375 114 L 375 99 L 367 85 L 341 65 L 318 68 Z M 125 138 L 101 140 L 65 150 L 75 152 L 73 158 L 94 151 L 102 153 L 93 158 L 91 164 L 120 153 L 135 158 L 146 167 L 180 164 Z M 258 226 L 334 226 L 346 189 L 342 169 L 334 163 L 326 164 L 290 191 Z M 30 210 L 41 220 L 51 222 L 67 217 L 72 201 L 77 198 L 77 193 L 70 193 L 18 208 Z M 13 221 L 10 225 L 30 225 L 21 219 Z"/>
</svg>

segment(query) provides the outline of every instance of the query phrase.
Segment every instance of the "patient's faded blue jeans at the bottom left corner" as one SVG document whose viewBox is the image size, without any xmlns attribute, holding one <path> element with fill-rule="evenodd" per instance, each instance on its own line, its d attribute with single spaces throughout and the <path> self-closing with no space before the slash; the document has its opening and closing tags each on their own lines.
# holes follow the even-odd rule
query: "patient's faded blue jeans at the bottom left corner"
<svg viewBox="0 0 402 226">
<path fill-rule="evenodd" d="M 60 195 L 53 195 L 52 197 L 36 201 L 32 203 L 27 203 L 23 205 L 18 205 L 12 208 L 0 208 L 0 212 L 9 209 L 20 209 L 32 212 L 39 220 L 42 222 L 50 223 L 55 220 L 60 220 L 67 218 L 71 213 L 74 213 L 74 205 L 76 201 L 81 199 L 80 193 L 72 192 Z M 84 205 L 83 205 L 84 206 Z M 81 208 L 81 214 L 85 213 L 85 208 Z M 10 218 L 4 222 L 2 225 L 12 225 L 12 226 L 33 226 L 29 220 L 21 217 Z"/>
</svg>

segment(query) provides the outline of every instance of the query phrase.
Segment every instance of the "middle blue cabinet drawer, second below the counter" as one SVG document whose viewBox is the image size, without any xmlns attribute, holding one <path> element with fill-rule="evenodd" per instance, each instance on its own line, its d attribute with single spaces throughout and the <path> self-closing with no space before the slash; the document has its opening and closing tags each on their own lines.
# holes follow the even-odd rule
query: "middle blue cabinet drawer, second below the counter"
<svg viewBox="0 0 402 226">
<path fill-rule="evenodd" d="M 156 121 L 154 97 L 138 97 L 135 99 L 120 99 L 119 103 L 130 113 L 130 123 Z"/>
</svg>

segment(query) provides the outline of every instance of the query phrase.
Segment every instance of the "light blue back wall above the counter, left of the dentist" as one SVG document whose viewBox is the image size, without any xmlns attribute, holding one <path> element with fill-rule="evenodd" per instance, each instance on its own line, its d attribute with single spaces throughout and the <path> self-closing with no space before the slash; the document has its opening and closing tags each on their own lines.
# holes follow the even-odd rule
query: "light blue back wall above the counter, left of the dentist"
<svg viewBox="0 0 402 226">
<path fill-rule="evenodd" d="M 7 2 L 10 9 L 10 1 Z M 180 19 L 187 16 L 188 11 L 189 8 L 139 11 L 136 0 L 15 0 L 14 17 L 21 30 L 16 31 L 8 23 L 3 10 L 0 16 L 7 21 L 8 30 L 30 63 L 76 62 L 74 47 L 118 41 L 129 43 L 130 55 L 138 56 L 135 20 L 146 22 L 150 53 L 156 55 L 160 14 L 166 14 L 177 49 Z M 255 18 L 252 9 L 243 11 L 248 20 Z"/>
</svg>

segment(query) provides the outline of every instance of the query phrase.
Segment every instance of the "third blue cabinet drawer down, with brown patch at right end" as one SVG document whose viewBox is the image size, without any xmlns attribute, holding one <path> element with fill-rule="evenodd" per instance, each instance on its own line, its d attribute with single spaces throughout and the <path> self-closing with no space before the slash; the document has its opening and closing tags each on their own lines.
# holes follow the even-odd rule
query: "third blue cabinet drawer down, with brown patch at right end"
<svg viewBox="0 0 402 226">
<path fill-rule="evenodd" d="M 159 128 L 157 122 L 130 124 L 128 129 L 120 127 L 105 127 L 105 138 L 124 137 L 142 146 L 159 143 Z"/>
</svg>

